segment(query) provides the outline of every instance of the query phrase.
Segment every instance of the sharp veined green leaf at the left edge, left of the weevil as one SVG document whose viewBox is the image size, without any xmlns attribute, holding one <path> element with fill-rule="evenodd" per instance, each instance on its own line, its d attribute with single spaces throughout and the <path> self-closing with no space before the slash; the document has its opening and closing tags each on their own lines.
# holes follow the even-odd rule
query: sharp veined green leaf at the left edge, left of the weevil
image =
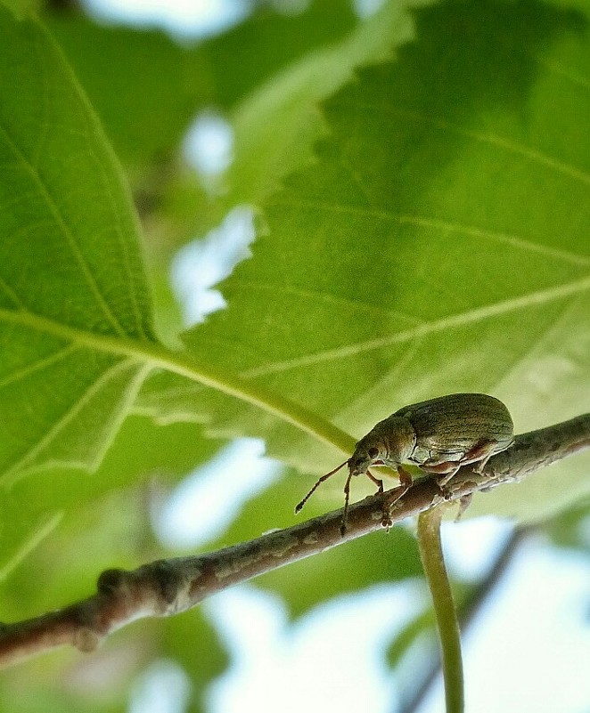
<svg viewBox="0 0 590 713">
<path fill-rule="evenodd" d="M 0 472 L 98 465 L 143 365 L 95 337 L 152 340 L 119 166 L 61 53 L 0 9 Z M 14 91 L 18 87 L 18 91 Z"/>
</svg>

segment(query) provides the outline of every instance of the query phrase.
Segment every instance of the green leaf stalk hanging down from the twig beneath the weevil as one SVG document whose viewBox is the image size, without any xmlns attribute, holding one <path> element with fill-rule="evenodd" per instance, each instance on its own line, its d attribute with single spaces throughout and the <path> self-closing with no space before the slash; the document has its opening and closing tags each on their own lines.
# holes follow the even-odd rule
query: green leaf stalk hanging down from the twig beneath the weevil
<svg viewBox="0 0 590 713">
<path fill-rule="evenodd" d="M 455 601 L 440 542 L 444 506 L 425 510 L 418 518 L 418 547 L 437 618 L 447 713 L 463 713 L 463 661 Z"/>
</svg>

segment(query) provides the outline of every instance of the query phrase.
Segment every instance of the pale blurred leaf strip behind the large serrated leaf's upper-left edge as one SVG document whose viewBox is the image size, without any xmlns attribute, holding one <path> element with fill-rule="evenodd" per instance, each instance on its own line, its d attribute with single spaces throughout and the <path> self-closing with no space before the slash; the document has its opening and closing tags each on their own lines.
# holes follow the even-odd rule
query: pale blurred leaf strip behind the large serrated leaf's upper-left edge
<svg viewBox="0 0 590 713">
<path fill-rule="evenodd" d="M 332 11 L 332 17 L 338 14 Z M 357 68 L 392 59 L 395 47 L 411 34 L 404 5 L 388 0 L 372 17 L 351 26 L 347 35 L 324 37 L 324 45 L 313 52 L 260 77 L 259 85 L 228 115 L 234 131 L 232 165 L 212 182 L 188 172 L 178 174 L 176 182 L 168 184 L 162 215 L 202 234 L 235 206 L 259 206 L 284 176 L 313 161 L 313 144 L 327 131 L 318 102 L 353 78 Z M 280 39 L 291 45 L 294 35 L 285 31 Z"/>
</svg>

